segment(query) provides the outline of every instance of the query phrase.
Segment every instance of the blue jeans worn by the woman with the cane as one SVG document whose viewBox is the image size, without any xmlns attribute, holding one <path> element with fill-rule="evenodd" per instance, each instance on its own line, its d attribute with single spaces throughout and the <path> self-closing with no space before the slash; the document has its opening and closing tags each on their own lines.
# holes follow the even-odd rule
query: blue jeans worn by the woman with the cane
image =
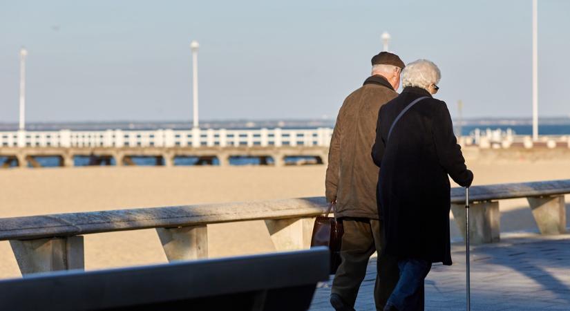
<svg viewBox="0 0 570 311">
<path fill-rule="evenodd" d="M 399 311 L 424 310 L 424 279 L 431 270 L 431 263 L 408 258 L 398 261 L 400 280 L 388 298 L 386 307 L 395 306 Z"/>
</svg>

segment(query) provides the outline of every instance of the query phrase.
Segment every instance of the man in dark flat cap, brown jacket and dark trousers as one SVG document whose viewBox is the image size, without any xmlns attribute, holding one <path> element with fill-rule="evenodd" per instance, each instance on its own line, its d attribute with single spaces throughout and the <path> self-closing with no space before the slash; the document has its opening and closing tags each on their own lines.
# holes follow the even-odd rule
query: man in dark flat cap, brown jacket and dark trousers
<svg viewBox="0 0 570 311">
<path fill-rule="evenodd" d="M 378 252 L 374 301 L 382 310 L 398 281 L 395 261 L 383 257 L 383 228 L 378 215 L 378 168 L 370 158 L 380 107 L 395 98 L 404 67 L 401 59 L 382 52 L 372 57 L 372 76 L 346 97 L 330 142 L 326 175 L 327 202 L 344 226 L 341 265 L 334 276 L 330 303 L 336 310 L 354 310 L 368 260 Z"/>
</svg>

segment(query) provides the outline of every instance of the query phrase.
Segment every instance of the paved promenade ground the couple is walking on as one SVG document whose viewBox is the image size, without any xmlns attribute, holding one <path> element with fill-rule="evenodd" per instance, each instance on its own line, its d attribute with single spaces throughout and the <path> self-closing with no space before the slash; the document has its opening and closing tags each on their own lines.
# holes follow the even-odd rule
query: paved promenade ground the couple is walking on
<svg viewBox="0 0 570 311">
<path fill-rule="evenodd" d="M 426 279 L 426 310 L 465 310 L 465 248 L 452 245 L 454 264 L 434 265 Z M 376 258 L 368 265 L 357 310 L 375 310 Z M 332 310 L 329 281 L 310 310 Z M 570 310 L 570 234 L 502 234 L 502 242 L 471 250 L 471 310 Z"/>
</svg>

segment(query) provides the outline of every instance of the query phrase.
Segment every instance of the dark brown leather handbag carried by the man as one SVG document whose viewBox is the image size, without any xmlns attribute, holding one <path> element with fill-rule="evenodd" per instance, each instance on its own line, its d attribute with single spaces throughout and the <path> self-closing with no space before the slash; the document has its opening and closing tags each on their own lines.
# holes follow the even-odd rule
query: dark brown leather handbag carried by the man
<svg viewBox="0 0 570 311">
<path fill-rule="evenodd" d="M 317 216 L 314 220 L 311 247 L 326 246 L 330 250 L 330 274 L 335 274 L 341 265 L 341 245 L 344 234 L 342 220 L 336 219 L 336 213 L 329 217 L 330 211 L 334 213 L 334 204 L 331 203 L 324 216 Z"/>
</svg>

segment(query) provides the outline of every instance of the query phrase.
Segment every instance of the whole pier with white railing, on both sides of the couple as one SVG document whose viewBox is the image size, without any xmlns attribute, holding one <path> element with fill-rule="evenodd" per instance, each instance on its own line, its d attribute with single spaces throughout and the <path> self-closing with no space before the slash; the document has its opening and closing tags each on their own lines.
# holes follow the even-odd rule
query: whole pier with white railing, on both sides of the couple
<svg viewBox="0 0 570 311">
<path fill-rule="evenodd" d="M 155 131 L 0 131 L 0 167 L 41 167 L 41 158 L 57 158 L 57 166 L 74 167 L 77 158 L 88 165 L 146 164 L 173 167 L 180 159 L 194 165 L 230 165 L 250 158 L 260 165 L 327 164 L 333 129 L 159 129 Z M 458 137 L 470 154 L 497 150 L 501 157 L 530 151 L 551 155 L 570 151 L 569 135 L 516 135 L 513 131 L 475 130 Z M 502 150 L 502 151 L 500 151 Z M 515 152 L 510 152 L 515 151 Z M 552 153 L 557 151 L 558 153 Z M 495 152 L 495 151 L 493 151 Z M 497 153 L 498 154 L 498 153 Z M 538 154 L 538 153 L 537 153 Z M 497 155 L 494 155 L 497 156 Z M 528 156 L 528 155 L 527 155 Z"/>
</svg>

